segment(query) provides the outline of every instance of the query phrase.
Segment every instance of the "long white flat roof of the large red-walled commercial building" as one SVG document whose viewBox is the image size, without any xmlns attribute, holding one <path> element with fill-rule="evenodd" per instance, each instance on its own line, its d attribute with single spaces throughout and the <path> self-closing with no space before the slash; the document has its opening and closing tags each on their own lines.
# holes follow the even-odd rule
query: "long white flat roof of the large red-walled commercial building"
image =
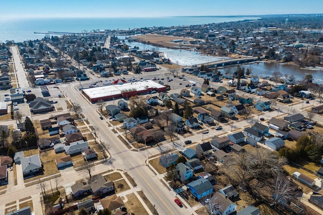
<svg viewBox="0 0 323 215">
<path fill-rule="evenodd" d="M 96 88 L 84 89 L 84 93 L 88 95 L 89 98 L 100 98 L 105 96 L 113 96 L 121 94 L 122 91 L 129 91 L 134 89 L 134 91 L 142 91 L 147 88 L 164 88 L 164 85 L 158 84 L 151 80 L 137 81 L 132 83 L 125 83 L 123 85 L 108 85 Z"/>
</svg>

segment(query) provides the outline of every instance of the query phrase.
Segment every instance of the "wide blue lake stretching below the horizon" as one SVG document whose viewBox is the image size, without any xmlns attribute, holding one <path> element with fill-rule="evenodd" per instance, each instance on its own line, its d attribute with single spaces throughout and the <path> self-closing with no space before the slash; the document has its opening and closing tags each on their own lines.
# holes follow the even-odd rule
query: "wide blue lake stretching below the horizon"
<svg viewBox="0 0 323 215">
<path fill-rule="evenodd" d="M 39 18 L 0 20 L 0 42 L 14 40 L 41 39 L 45 35 L 34 32 L 78 32 L 86 30 L 126 30 L 134 28 L 152 28 L 154 26 L 187 26 L 209 23 L 232 22 L 239 20 L 255 20 L 258 17 L 158 17 L 158 18 Z"/>
</svg>

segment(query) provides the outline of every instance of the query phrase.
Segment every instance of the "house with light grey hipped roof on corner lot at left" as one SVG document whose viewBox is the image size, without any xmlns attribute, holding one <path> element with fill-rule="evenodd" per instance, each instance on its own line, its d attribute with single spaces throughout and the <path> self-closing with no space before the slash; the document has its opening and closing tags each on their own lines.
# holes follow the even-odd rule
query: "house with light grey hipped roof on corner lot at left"
<svg viewBox="0 0 323 215">
<path fill-rule="evenodd" d="M 32 155 L 26 158 L 20 159 L 22 173 L 24 176 L 39 172 L 42 168 L 42 164 L 39 155 Z"/>
</svg>

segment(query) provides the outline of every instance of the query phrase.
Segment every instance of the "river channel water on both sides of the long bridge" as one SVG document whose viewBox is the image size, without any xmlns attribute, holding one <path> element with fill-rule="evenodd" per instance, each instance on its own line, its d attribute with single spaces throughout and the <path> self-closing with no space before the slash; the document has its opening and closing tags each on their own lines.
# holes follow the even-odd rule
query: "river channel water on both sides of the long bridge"
<svg viewBox="0 0 323 215">
<path fill-rule="evenodd" d="M 123 38 L 124 39 L 124 38 Z M 201 64 L 213 61 L 219 61 L 222 59 L 227 59 L 227 57 L 216 57 L 201 54 L 198 51 L 187 51 L 181 49 L 169 49 L 161 48 L 154 45 L 148 45 L 140 42 L 128 42 L 125 43 L 131 47 L 137 46 L 141 50 L 155 50 L 164 53 L 166 58 L 169 58 L 173 63 L 179 65 L 191 66 L 194 64 Z M 272 76 L 274 71 L 280 71 L 282 76 L 285 74 L 294 75 L 296 80 L 303 79 L 307 74 L 313 76 L 313 82 L 317 84 L 323 84 L 323 67 L 316 68 L 301 68 L 297 65 L 283 64 L 283 63 L 270 63 L 270 62 L 254 62 L 250 64 L 244 64 L 245 68 L 250 66 L 252 68 L 251 75 L 257 75 L 258 77 Z M 224 74 L 224 69 L 219 69 Z"/>
</svg>

